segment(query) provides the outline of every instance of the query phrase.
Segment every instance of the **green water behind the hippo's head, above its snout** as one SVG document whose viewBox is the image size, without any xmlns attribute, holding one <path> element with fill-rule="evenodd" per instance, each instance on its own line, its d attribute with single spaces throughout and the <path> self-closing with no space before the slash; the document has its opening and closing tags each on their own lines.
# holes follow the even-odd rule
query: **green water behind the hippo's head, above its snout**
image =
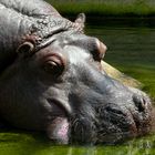
<svg viewBox="0 0 155 155">
<path fill-rule="evenodd" d="M 155 97 L 155 28 L 104 24 L 87 25 L 86 30 L 107 45 L 104 60 L 140 80 L 144 90 Z"/>
</svg>

